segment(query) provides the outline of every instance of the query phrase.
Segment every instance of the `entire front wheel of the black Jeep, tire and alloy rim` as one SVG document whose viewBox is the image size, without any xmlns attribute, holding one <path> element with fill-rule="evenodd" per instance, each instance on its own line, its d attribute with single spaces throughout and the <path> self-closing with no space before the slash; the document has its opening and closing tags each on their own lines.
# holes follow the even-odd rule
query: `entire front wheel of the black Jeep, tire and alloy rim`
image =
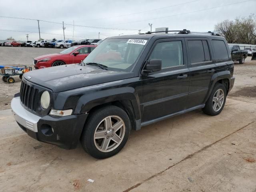
<svg viewBox="0 0 256 192">
<path fill-rule="evenodd" d="M 81 144 L 94 158 L 104 159 L 120 152 L 129 134 L 130 120 L 126 112 L 116 106 L 106 106 L 88 117 Z"/>
</svg>

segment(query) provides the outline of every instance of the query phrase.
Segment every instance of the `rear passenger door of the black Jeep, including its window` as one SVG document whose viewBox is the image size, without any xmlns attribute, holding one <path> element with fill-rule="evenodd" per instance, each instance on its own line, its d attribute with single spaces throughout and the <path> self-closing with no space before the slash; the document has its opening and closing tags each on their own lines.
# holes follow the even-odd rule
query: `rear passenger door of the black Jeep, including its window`
<svg viewBox="0 0 256 192">
<path fill-rule="evenodd" d="M 188 69 L 190 70 L 188 108 L 204 103 L 212 76 L 216 73 L 216 65 L 212 60 L 209 45 L 208 38 L 186 38 Z"/>
</svg>

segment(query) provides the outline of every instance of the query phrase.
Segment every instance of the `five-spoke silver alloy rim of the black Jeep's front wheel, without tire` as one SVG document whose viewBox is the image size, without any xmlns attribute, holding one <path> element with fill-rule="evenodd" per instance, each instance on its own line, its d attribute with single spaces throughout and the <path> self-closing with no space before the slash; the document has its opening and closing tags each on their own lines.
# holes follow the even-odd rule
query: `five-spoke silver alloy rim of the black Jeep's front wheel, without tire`
<svg viewBox="0 0 256 192">
<path fill-rule="evenodd" d="M 124 139 L 125 124 L 118 116 L 108 116 L 97 126 L 94 132 L 94 144 L 101 152 L 116 149 Z"/>
</svg>

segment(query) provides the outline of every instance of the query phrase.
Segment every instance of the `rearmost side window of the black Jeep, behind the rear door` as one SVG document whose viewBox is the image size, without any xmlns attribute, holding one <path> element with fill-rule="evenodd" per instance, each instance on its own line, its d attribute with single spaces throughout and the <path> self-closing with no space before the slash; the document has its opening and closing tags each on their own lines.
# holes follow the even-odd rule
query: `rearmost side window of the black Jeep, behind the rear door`
<svg viewBox="0 0 256 192">
<path fill-rule="evenodd" d="M 212 40 L 212 46 L 214 50 L 214 57 L 217 61 L 228 59 L 228 50 L 224 41 Z"/>
</svg>

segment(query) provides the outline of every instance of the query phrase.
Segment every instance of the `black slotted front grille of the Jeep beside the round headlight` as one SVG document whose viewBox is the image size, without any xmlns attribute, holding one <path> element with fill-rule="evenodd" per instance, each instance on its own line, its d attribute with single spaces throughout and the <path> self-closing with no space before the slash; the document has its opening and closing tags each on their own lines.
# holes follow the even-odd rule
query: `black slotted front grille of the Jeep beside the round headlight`
<svg viewBox="0 0 256 192">
<path fill-rule="evenodd" d="M 33 88 L 26 84 L 26 82 L 21 81 L 20 84 L 20 101 L 22 104 L 30 109 L 36 112 L 36 109 L 39 106 L 39 93 L 38 89 Z"/>
</svg>

